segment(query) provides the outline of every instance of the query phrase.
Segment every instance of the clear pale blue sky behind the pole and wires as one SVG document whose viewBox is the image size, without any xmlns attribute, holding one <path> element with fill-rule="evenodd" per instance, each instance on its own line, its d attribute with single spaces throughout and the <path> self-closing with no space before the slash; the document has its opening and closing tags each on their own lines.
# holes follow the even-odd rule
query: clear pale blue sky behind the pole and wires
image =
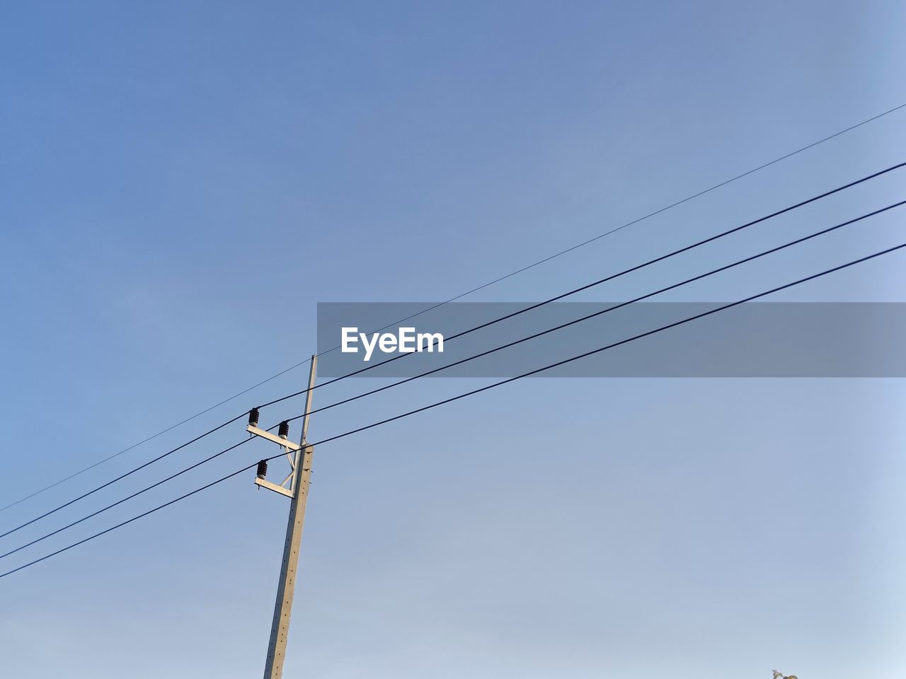
<svg viewBox="0 0 906 679">
<path fill-rule="evenodd" d="M 318 301 L 447 299 L 903 103 L 904 20 L 893 1 L 5 4 L 0 504 L 306 358 Z M 904 129 L 892 113 L 469 299 L 537 301 L 900 162 Z M 581 299 L 648 292 L 902 186 L 885 177 Z M 902 220 L 666 299 L 760 292 L 901 243 Z M 780 299 L 904 301 L 904 261 Z M 315 416 L 312 435 L 486 381 L 425 380 Z M 895 379 L 534 379 L 324 445 L 284 676 L 901 677 L 903 406 Z M 264 454 L 240 448 L 0 565 Z M 0 675 L 260 674 L 286 503 L 252 478 L 0 580 Z"/>
</svg>

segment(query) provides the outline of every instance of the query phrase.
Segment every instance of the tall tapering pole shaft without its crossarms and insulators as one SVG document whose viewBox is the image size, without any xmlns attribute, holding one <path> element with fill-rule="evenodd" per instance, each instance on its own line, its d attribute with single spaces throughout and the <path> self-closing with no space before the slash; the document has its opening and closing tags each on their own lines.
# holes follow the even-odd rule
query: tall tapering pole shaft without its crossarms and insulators
<svg viewBox="0 0 906 679">
<path fill-rule="evenodd" d="M 299 546 L 302 542 L 302 527 L 305 521 L 305 501 L 308 500 L 308 483 L 312 477 L 314 447 L 305 445 L 305 437 L 308 435 L 308 414 L 312 410 L 312 387 L 314 387 L 317 365 L 318 357 L 315 354 L 308 372 L 308 393 L 305 395 L 302 437 L 299 441 L 302 448 L 297 450 L 294 455 L 293 497 L 290 500 L 289 521 L 286 524 L 286 542 L 284 543 L 284 558 L 280 567 L 280 582 L 277 586 L 277 598 L 274 605 L 274 622 L 271 625 L 270 643 L 267 645 L 265 679 L 280 679 L 283 676 L 286 637 L 289 635 L 289 620 L 293 613 Z"/>
</svg>

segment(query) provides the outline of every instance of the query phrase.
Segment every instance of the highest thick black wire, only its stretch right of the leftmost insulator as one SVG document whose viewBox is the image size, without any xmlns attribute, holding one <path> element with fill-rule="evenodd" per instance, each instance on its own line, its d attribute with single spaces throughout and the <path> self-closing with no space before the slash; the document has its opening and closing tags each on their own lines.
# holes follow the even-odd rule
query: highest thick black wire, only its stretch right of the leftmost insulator
<svg viewBox="0 0 906 679">
<path fill-rule="evenodd" d="M 525 313 L 526 311 L 533 311 L 535 309 L 538 309 L 539 307 L 545 306 L 545 304 L 550 304 L 554 301 L 563 300 L 565 297 L 569 297 L 578 292 L 583 292 L 585 290 L 593 288 L 596 285 L 601 285 L 604 282 L 613 281 L 614 279 L 620 278 L 621 276 L 624 276 L 627 273 L 633 273 L 633 272 L 640 271 L 641 269 L 644 269 L 645 267 L 651 266 L 651 264 L 663 262 L 664 260 L 668 260 L 668 259 L 670 259 L 670 257 L 675 257 L 676 255 L 681 254 L 681 253 L 687 253 L 687 252 L 689 252 L 689 250 L 694 250 L 695 248 L 700 247 L 701 245 L 712 243 L 714 241 L 717 241 L 720 238 L 724 238 L 725 236 L 728 236 L 729 234 L 735 234 L 735 233 L 737 233 L 737 231 L 742 231 L 743 229 L 746 229 L 749 226 L 754 226 L 754 225 L 760 224 L 762 222 L 766 222 L 768 219 L 773 219 L 776 216 L 784 215 L 787 212 L 791 212 L 792 210 L 795 210 L 802 206 L 807 206 L 810 203 L 814 203 L 815 201 L 821 200 L 822 198 L 826 198 L 827 196 L 833 196 L 834 194 L 840 193 L 841 191 L 844 191 L 848 188 L 852 188 L 853 186 L 863 184 L 863 182 L 867 182 L 871 179 L 874 179 L 875 177 L 881 177 L 882 175 L 885 175 L 888 172 L 892 172 L 893 170 L 899 169 L 904 166 L 906 166 L 906 162 L 897 163 L 896 165 L 892 165 L 891 167 L 886 167 L 878 172 L 872 173 L 871 175 L 867 175 L 860 179 L 856 179 L 855 181 L 852 181 L 848 184 L 844 184 L 843 186 L 837 186 L 836 188 L 833 188 L 830 191 L 825 191 L 823 194 L 819 194 L 818 196 L 812 196 L 811 198 L 808 198 L 799 203 L 796 203 L 795 205 L 787 206 L 787 207 L 784 207 L 783 209 L 776 210 L 776 212 L 772 212 L 770 215 L 758 217 L 757 219 L 753 219 L 751 222 L 747 222 L 746 224 L 734 226 L 733 228 L 728 229 L 727 231 L 723 231 L 719 234 L 708 236 L 708 238 L 704 238 L 696 243 L 681 247 L 681 248 L 679 248 L 679 250 L 674 250 L 673 252 L 667 253 L 667 254 L 661 254 L 660 257 L 655 257 L 654 259 L 650 259 L 647 262 L 644 262 L 641 264 L 636 264 L 635 266 L 631 266 L 628 269 L 623 269 L 622 272 L 612 273 L 609 276 L 605 276 L 601 279 L 598 279 L 597 281 L 586 283 L 585 285 L 581 285 L 578 288 L 573 288 L 573 290 L 556 295 L 554 297 L 551 297 L 548 300 L 539 301 L 535 304 L 531 304 L 531 305 L 525 307 L 524 309 L 519 309 L 518 311 L 513 311 L 512 313 L 507 313 L 506 315 L 500 316 L 499 318 L 496 318 L 494 320 L 488 320 L 487 322 L 481 323 L 480 325 L 477 325 L 473 328 L 469 328 L 468 330 L 462 330 L 461 332 L 458 332 L 455 335 L 450 335 L 449 337 L 444 338 L 444 341 L 448 342 L 453 339 L 463 337 L 464 335 L 467 335 L 471 332 L 475 332 L 476 330 L 482 330 L 484 328 L 488 328 L 492 325 L 495 325 L 496 323 L 499 323 L 503 320 L 508 320 L 508 319 L 514 318 L 520 314 Z M 364 368 L 359 368 L 358 370 L 353 370 L 352 372 L 346 373 L 345 375 L 341 375 L 340 377 L 328 379 L 326 382 L 321 382 L 320 384 L 316 384 L 312 388 L 317 389 L 320 387 L 326 387 L 327 385 L 331 385 L 334 382 L 339 382 L 342 379 L 352 378 L 356 375 L 361 375 L 361 373 L 363 373 L 363 372 L 367 372 L 368 370 L 372 370 L 374 368 L 380 368 L 381 366 L 387 365 L 388 363 L 392 363 L 395 360 L 403 359 L 403 358 L 405 358 L 407 356 L 411 356 L 411 355 L 412 354 L 397 354 L 396 356 L 393 356 L 390 359 L 381 361 L 380 363 L 371 363 L 370 365 L 365 366 Z M 258 406 L 258 407 L 264 408 L 266 406 L 273 406 L 275 403 L 280 403 L 281 401 L 285 401 L 288 398 L 302 396 L 303 394 L 305 394 L 307 392 L 308 392 L 308 389 L 303 389 L 301 391 L 295 391 L 292 394 L 287 394 L 284 397 L 275 398 L 274 400 L 268 401 L 267 403 L 262 404 L 261 406 Z"/>
</svg>

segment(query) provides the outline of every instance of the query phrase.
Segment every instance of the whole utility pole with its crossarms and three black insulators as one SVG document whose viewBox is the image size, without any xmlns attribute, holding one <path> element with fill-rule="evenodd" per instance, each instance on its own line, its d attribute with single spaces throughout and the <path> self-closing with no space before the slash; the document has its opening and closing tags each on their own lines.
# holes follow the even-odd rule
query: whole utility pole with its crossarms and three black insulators
<svg viewBox="0 0 906 679">
<path fill-rule="evenodd" d="M 283 563 L 280 566 L 280 581 L 277 584 L 277 598 L 274 605 L 274 621 L 271 625 L 271 638 L 267 645 L 265 661 L 265 679 L 280 679 L 283 676 L 283 665 L 286 657 L 286 637 L 289 635 L 289 621 L 293 613 L 293 595 L 295 591 L 296 572 L 299 564 L 299 546 L 302 542 L 302 527 L 305 521 L 305 502 L 308 500 L 308 484 L 312 476 L 312 457 L 314 446 L 305 443 L 308 435 L 309 413 L 312 410 L 312 389 L 317 370 L 317 354 L 312 356 L 308 372 L 308 392 L 305 394 L 305 410 L 302 418 L 302 436 L 299 445 L 287 440 L 289 425 L 280 423 L 279 435 L 275 436 L 264 429 L 259 429 L 257 410 L 249 416 L 247 430 L 254 435 L 266 438 L 284 447 L 292 471 L 279 485 L 265 480 L 267 463 L 258 463 L 255 483 L 286 495 L 290 498 L 289 520 L 286 523 L 286 541 L 284 543 Z M 254 420 L 254 421 L 253 421 Z M 291 453 L 292 451 L 292 453 Z M 287 485 L 288 483 L 288 485 Z"/>
</svg>

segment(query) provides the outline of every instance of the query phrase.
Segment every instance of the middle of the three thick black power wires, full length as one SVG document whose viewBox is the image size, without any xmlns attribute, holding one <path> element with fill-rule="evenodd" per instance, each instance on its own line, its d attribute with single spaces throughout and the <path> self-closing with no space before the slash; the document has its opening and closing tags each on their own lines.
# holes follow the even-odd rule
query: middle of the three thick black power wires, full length
<svg viewBox="0 0 906 679">
<path fill-rule="evenodd" d="M 378 388 L 376 388 L 376 389 L 372 389 L 371 391 L 364 392 L 364 393 L 362 393 L 362 394 L 358 394 L 358 395 L 356 395 L 356 396 L 354 396 L 354 397 L 346 398 L 346 399 L 344 399 L 344 400 L 342 400 L 342 401 L 337 401 L 337 402 L 332 403 L 332 404 L 330 404 L 330 405 L 328 405 L 328 406 L 323 406 L 323 407 L 321 407 L 321 408 L 316 408 L 316 409 L 314 409 L 314 410 L 308 412 L 307 415 L 310 415 L 310 416 L 311 416 L 311 415 L 314 415 L 315 413 L 320 413 L 320 412 L 322 412 L 322 411 L 324 411 L 324 410 L 329 410 L 329 409 L 331 409 L 331 408 L 333 408 L 333 407 L 336 407 L 336 406 L 342 406 L 342 405 L 344 405 L 344 404 L 350 403 L 351 401 L 358 400 L 359 398 L 371 396 L 371 395 L 373 395 L 373 394 L 377 394 L 377 393 L 379 393 L 379 392 L 381 392 L 381 391 L 385 391 L 385 390 L 390 389 L 390 388 L 392 388 L 392 387 L 399 387 L 400 385 L 406 384 L 407 382 L 411 382 L 411 381 L 413 381 L 413 380 L 415 380 L 415 379 L 424 378 L 424 377 L 427 377 L 427 376 L 432 375 L 432 374 L 434 374 L 434 373 L 437 373 L 437 372 L 439 372 L 439 371 L 441 371 L 441 370 L 446 370 L 446 369 L 448 369 L 448 368 L 453 368 L 453 367 L 458 366 L 458 365 L 461 365 L 461 364 L 463 364 L 463 363 L 467 363 L 467 362 L 470 361 L 470 360 L 482 358 L 482 357 L 487 356 L 487 355 L 489 355 L 489 354 L 496 353 L 496 351 L 500 351 L 500 350 L 503 350 L 503 349 L 509 349 L 509 348 L 511 348 L 511 347 L 516 346 L 517 344 L 522 344 L 523 342 L 529 341 L 529 340 L 531 340 L 531 339 L 536 339 L 536 338 L 538 338 L 538 337 L 542 337 L 543 335 L 550 334 L 550 333 L 555 332 L 555 331 L 557 331 L 557 330 L 563 330 L 564 328 L 568 328 L 568 327 L 570 327 L 570 326 L 576 325 L 577 323 L 581 323 L 581 322 L 583 322 L 583 321 L 585 321 L 585 320 L 593 319 L 593 318 L 595 318 L 595 317 L 597 317 L 597 316 L 602 316 L 603 314 L 609 313 L 610 311 L 616 311 L 617 309 L 622 309 L 622 307 L 629 306 L 630 304 L 634 304 L 635 302 L 647 300 L 647 299 L 649 299 L 649 298 L 651 298 L 651 297 L 654 297 L 654 296 L 656 296 L 656 295 L 659 295 L 659 294 L 661 294 L 661 293 L 663 293 L 663 292 L 669 292 L 669 291 L 671 291 L 671 290 L 676 290 L 677 288 L 682 287 L 683 285 L 688 285 L 688 284 L 691 283 L 691 282 L 700 281 L 700 280 L 702 280 L 702 279 L 708 278 L 709 276 L 715 275 L 715 274 L 717 274 L 717 273 L 722 273 L 722 272 L 728 271 L 729 269 L 732 269 L 732 268 L 737 267 L 737 266 L 739 266 L 739 265 L 741 265 L 741 264 L 744 264 L 744 263 L 752 262 L 752 261 L 757 260 L 757 259 L 759 259 L 759 258 L 761 258 L 761 257 L 764 257 L 764 256 L 766 256 L 766 255 L 768 255 L 768 254 L 773 254 L 773 253 L 780 252 L 781 250 L 786 250 L 786 248 L 788 248 L 788 247 L 792 247 L 792 246 L 794 246 L 794 245 L 796 245 L 796 244 L 805 243 L 806 241 L 812 240 L 813 238 L 817 238 L 817 237 L 819 237 L 819 236 L 822 236 L 822 235 L 825 235 L 825 234 L 829 234 L 829 233 L 831 233 L 831 232 L 833 232 L 833 231 L 836 231 L 837 229 L 843 228 L 843 226 L 852 225 L 852 224 L 855 224 L 855 223 L 857 223 L 857 222 L 861 222 L 861 221 L 863 221 L 864 219 L 867 219 L 867 218 L 872 217 L 872 216 L 875 216 L 875 215 L 880 215 L 880 214 L 882 214 L 882 213 L 884 213 L 884 212 L 887 212 L 888 210 L 892 210 L 892 209 L 895 208 L 895 207 L 900 207 L 900 206 L 903 206 L 903 205 L 906 205 L 906 200 L 900 201 L 899 203 L 894 203 L 894 204 L 892 204 L 892 205 L 890 205 L 890 206 L 882 207 L 882 208 L 880 208 L 880 209 L 878 209 L 878 210 L 874 210 L 873 212 L 867 213 L 867 214 L 865 214 L 865 215 L 860 215 L 860 216 L 858 216 L 858 217 L 854 217 L 853 219 L 849 219 L 849 220 L 847 220 L 847 221 L 845 221 L 845 222 L 842 222 L 842 223 L 840 223 L 840 224 L 833 225 L 833 226 L 829 226 L 829 227 L 827 227 L 827 228 L 821 229 L 820 231 L 814 232 L 814 234 L 808 234 L 808 235 L 805 235 L 805 236 L 803 236 L 803 237 L 801 237 L 801 238 L 796 238 L 795 240 L 789 241 L 789 242 L 786 243 L 786 244 L 777 245 L 776 247 L 770 248 L 770 249 L 765 250 L 765 251 L 763 251 L 763 252 L 761 252 L 761 253 L 753 254 L 753 255 L 751 255 L 751 256 L 749 256 L 749 257 L 746 257 L 746 258 L 744 258 L 744 259 L 737 260 L 737 262 L 726 264 L 726 265 L 724 265 L 724 266 L 718 267 L 717 269 L 712 269 L 712 270 L 708 271 L 707 273 L 700 273 L 699 275 L 693 276 L 693 277 L 688 278 L 688 279 L 686 279 L 686 280 L 684 280 L 684 281 L 677 282 L 677 283 L 673 283 L 672 285 L 668 285 L 667 287 L 660 288 L 660 290 L 657 290 L 657 291 L 654 291 L 654 292 L 648 292 L 648 293 L 646 293 L 646 294 L 643 294 L 643 295 L 641 295 L 641 296 L 639 296 L 639 297 L 636 297 L 636 298 L 634 298 L 634 299 L 631 299 L 631 300 L 629 300 L 629 301 L 623 301 L 623 302 L 621 302 L 621 303 L 619 303 L 619 304 L 615 304 L 615 305 L 613 305 L 613 306 L 611 306 L 611 307 L 607 307 L 606 309 L 602 309 L 601 311 L 595 311 L 595 312 L 590 313 L 590 314 L 587 314 L 587 315 L 585 315 L 585 316 L 583 316 L 583 317 L 581 317 L 581 318 L 579 318 L 579 319 L 570 320 L 570 321 L 568 321 L 568 322 L 565 322 L 565 323 L 562 323 L 562 324 L 560 324 L 560 325 L 558 325 L 558 326 L 555 326 L 554 328 L 549 328 L 549 329 L 547 329 L 547 330 L 541 330 L 540 332 L 536 332 L 536 333 L 533 334 L 533 335 L 529 335 L 529 336 L 524 337 L 524 338 L 521 338 L 521 339 L 516 339 L 516 340 L 514 340 L 514 341 L 511 341 L 511 342 L 508 342 L 508 343 L 506 343 L 506 344 L 500 345 L 500 346 L 495 347 L 495 348 L 493 348 L 493 349 L 488 349 L 487 351 L 483 351 L 483 352 L 478 353 L 478 354 L 475 354 L 475 355 L 473 355 L 473 356 L 469 356 L 469 357 L 467 357 L 467 358 L 465 358 L 465 359 L 460 359 L 460 360 L 458 360 L 458 361 L 456 361 L 456 362 L 454 362 L 454 363 L 449 363 L 449 364 L 447 364 L 447 365 L 440 366 L 439 368 L 433 368 L 433 369 L 428 370 L 428 371 L 426 371 L 426 372 L 419 373 L 419 375 L 414 375 L 414 376 L 412 376 L 412 377 L 410 377 L 410 378 L 401 379 L 400 381 L 394 382 L 394 383 L 392 383 L 392 384 L 390 384 L 390 385 L 385 385 L 385 386 L 383 386 L 383 387 L 378 387 Z M 291 418 L 289 418 L 288 420 L 284 420 L 284 421 L 286 421 L 286 422 L 292 422 L 292 421 L 294 421 L 294 420 L 296 420 L 296 419 L 299 419 L 299 417 L 303 417 L 303 416 L 304 416 L 304 415 L 302 415 L 302 416 L 291 417 Z M 271 429 L 273 429 L 273 428 L 275 428 L 275 427 L 271 427 Z M 229 451 L 231 451 L 231 450 L 237 448 L 237 447 L 240 446 L 240 445 L 246 444 L 246 443 L 247 443 L 248 441 L 250 441 L 250 440 L 251 440 L 251 439 L 246 438 L 246 439 L 244 439 L 243 441 L 237 443 L 236 445 L 231 445 L 231 446 L 229 446 L 228 448 L 226 448 L 226 449 L 220 451 L 219 453 L 212 454 L 212 455 L 208 456 L 207 458 L 205 458 L 204 460 L 201 460 L 200 462 L 198 462 L 198 463 L 196 463 L 196 464 L 192 464 L 191 466 L 188 466 L 188 467 L 186 467 L 185 469 L 182 469 L 182 470 L 180 470 L 180 471 L 177 472 L 177 473 L 171 474 L 170 476 L 168 476 L 167 478 L 163 479 L 162 481 L 159 481 L 159 482 L 157 482 L 157 483 L 152 483 L 151 485 L 149 485 L 149 486 L 147 486 L 147 487 L 145 487 L 145 488 L 142 488 L 140 491 L 138 491 L 138 492 L 136 492 L 136 493 L 132 493 L 132 494 L 129 495 L 128 497 L 125 497 L 125 498 L 123 498 L 123 499 L 121 499 L 121 500 L 118 500 L 117 502 L 113 502 L 113 503 L 107 505 L 106 507 L 102 507 L 101 509 L 97 510 L 96 512 L 92 512 L 92 513 L 90 513 L 90 514 L 88 514 L 88 515 L 86 515 L 86 516 L 83 516 L 81 519 L 78 519 L 78 520 L 76 520 L 76 521 L 72 521 L 72 523 L 69 523 L 69 524 L 63 526 L 62 528 L 59 528 L 59 529 L 57 529 L 57 530 L 55 530 L 55 531 L 46 533 L 46 534 L 44 534 L 43 536 L 41 536 L 40 538 L 36 538 L 35 540 L 31 540 L 30 542 L 26 542 L 24 545 L 21 545 L 21 546 L 15 548 L 14 550 L 7 551 L 5 554 L 0 554 L 0 559 L 4 559 L 5 557 L 8 557 L 8 556 L 10 556 L 10 555 L 12 555 L 12 554 L 15 554 L 15 553 L 18 552 L 18 551 L 24 550 L 24 549 L 27 548 L 27 547 L 31 547 L 32 545 L 36 544 L 37 542 L 41 542 L 42 540 L 46 540 L 47 538 L 53 537 L 53 535 L 57 535 L 57 534 L 60 533 L 60 532 L 66 531 L 66 530 L 72 528 L 73 526 L 76 526 L 76 525 L 82 523 L 82 521 L 88 521 L 89 519 L 92 519 L 93 517 L 97 516 L 98 514 L 101 514 L 102 512 L 106 512 L 107 510 L 110 510 L 110 509 L 112 509 L 113 507 L 116 507 L 116 506 L 122 504 L 123 502 L 128 502 L 128 501 L 131 500 L 132 498 L 137 497 L 137 496 L 139 496 L 139 495 L 142 494 L 142 493 L 146 493 L 146 492 L 148 492 L 149 490 L 152 490 L 152 489 L 154 489 L 154 488 L 157 488 L 159 485 L 161 485 L 161 484 L 163 484 L 163 483 L 167 483 L 168 481 L 170 481 L 170 480 L 172 480 L 172 479 L 175 479 L 176 477 L 181 476 L 181 475 L 184 474 L 184 473 L 187 473 L 187 472 L 189 472 L 189 471 L 191 471 L 191 470 L 193 470 L 193 469 L 196 469 L 197 467 L 201 466 L 202 464 L 206 464 L 207 462 L 210 462 L 211 460 L 213 460 L 213 459 L 219 457 L 220 455 L 225 454 L 225 453 L 228 453 Z"/>
</svg>

